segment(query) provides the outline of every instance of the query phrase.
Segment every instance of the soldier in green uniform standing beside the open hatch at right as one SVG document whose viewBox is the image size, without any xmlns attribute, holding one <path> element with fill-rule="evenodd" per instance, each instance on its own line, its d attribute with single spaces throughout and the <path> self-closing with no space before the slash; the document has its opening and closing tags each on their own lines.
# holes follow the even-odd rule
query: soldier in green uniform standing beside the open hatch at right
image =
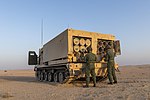
<svg viewBox="0 0 150 100">
<path fill-rule="evenodd" d="M 117 83 L 117 78 L 115 74 L 115 63 L 114 63 L 114 58 L 115 58 L 115 53 L 112 48 L 112 43 L 109 43 L 106 47 L 106 61 L 107 61 L 107 72 L 108 72 L 108 79 L 109 83 L 108 84 L 114 84 Z M 113 78 L 113 80 L 112 80 Z"/>
</svg>

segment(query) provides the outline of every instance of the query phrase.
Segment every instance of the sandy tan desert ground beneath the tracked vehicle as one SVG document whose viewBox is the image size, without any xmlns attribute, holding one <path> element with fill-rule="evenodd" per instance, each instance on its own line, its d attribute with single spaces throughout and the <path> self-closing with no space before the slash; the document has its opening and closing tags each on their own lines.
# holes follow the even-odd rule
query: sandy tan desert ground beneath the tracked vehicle
<svg viewBox="0 0 150 100">
<path fill-rule="evenodd" d="M 0 100 L 150 100 L 150 65 L 124 66 L 120 71 L 118 84 L 108 85 L 107 79 L 90 88 L 78 82 L 37 82 L 32 70 L 0 71 Z"/>
</svg>

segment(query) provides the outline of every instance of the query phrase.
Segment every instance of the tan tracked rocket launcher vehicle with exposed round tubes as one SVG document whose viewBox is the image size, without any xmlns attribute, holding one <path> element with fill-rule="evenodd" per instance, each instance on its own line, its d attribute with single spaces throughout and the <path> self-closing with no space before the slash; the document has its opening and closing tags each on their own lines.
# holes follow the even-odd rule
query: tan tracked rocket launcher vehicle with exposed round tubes
<svg viewBox="0 0 150 100">
<path fill-rule="evenodd" d="M 66 29 L 44 44 L 39 49 L 39 55 L 29 51 L 28 64 L 35 65 L 35 76 L 39 81 L 69 83 L 85 78 L 86 63 L 82 57 L 87 54 L 87 47 L 90 46 L 97 55 L 95 72 L 97 81 L 100 81 L 107 77 L 105 54 L 110 42 L 113 43 L 115 54 L 120 55 L 120 42 L 113 35 Z"/>
</svg>

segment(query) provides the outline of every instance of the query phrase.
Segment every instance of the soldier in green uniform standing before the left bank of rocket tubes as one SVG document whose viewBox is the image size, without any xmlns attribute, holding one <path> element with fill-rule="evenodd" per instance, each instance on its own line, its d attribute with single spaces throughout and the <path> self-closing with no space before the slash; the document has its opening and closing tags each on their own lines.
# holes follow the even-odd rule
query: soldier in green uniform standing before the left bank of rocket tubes
<svg viewBox="0 0 150 100">
<path fill-rule="evenodd" d="M 88 53 L 85 55 L 85 61 L 86 61 L 86 68 L 85 68 L 85 76 L 86 76 L 86 86 L 89 87 L 90 82 L 90 74 L 93 79 L 93 87 L 96 87 L 96 74 L 95 74 L 95 62 L 97 60 L 96 55 L 92 53 L 92 48 L 87 48 Z"/>
</svg>

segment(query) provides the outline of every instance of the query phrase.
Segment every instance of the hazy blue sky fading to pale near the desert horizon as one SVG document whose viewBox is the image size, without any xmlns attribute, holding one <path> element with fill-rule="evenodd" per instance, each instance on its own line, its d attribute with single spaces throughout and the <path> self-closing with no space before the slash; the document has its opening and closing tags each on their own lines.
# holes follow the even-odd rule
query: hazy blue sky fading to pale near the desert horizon
<svg viewBox="0 0 150 100">
<path fill-rule="evenodd" d="M 150 0 L 0 0 L 0 69 L 27 69 L 28 51 L 70 27 L 111 33 L 120 65 L 150 64 Z"/>
</svg>

